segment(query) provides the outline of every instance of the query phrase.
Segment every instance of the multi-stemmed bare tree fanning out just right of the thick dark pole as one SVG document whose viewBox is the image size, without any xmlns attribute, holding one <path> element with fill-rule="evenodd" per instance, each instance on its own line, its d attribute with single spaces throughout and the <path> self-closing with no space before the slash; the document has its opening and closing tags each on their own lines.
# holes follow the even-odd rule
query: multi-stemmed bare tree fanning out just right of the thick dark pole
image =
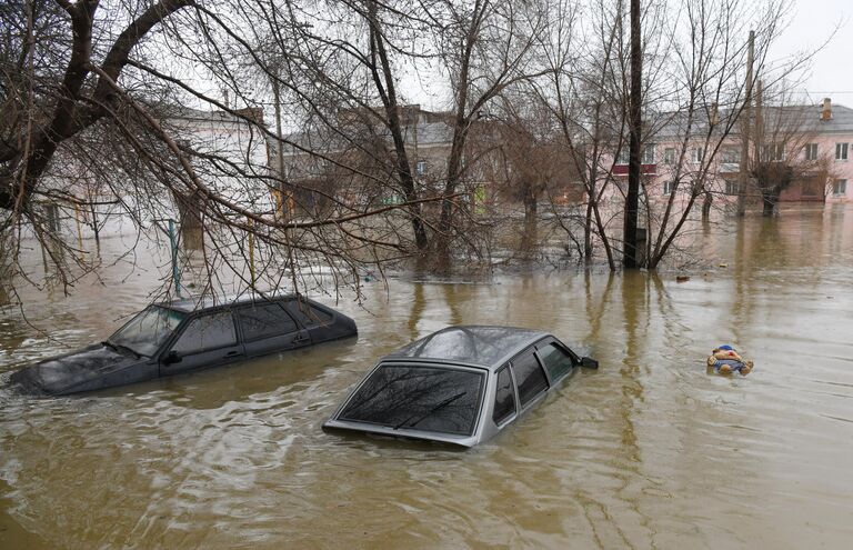
<svg viewBox="0 0 853 550">
<path fill-rule="evenodd" d="M 668 33 L 674 40 L 668 50 L 669 74 L 661 74 L 674 83 L 662 90 L 662 103 L 676 109 L 659 114 L 663 124 L 652 129 L 648 138 L 649 142 L 675 143 L 674 158 L 658 174 L 669 180 L 668 200 L 662 210 L 646 201 L 646 267 L 651 269 L 666 257 L 698 200 L 715 180 L 719 154 L 736 130 L 750 88 L 744 78 L 749 30 L 754 29 L 757 37 L 757 72 L 770 70 L 769 48 L 779 33 L 787 3 L 685 0 L 683 6 L 669 23 Z M 787 72 L 802 63 L 803 59 L 792 61 Z M 782 72 L 776 74 L 782 78 Z M 653 103 L 648 108 L 653 109 Z M 679 197 L 684 198 L 681 204 L 676 204 Z"/>
</svg>

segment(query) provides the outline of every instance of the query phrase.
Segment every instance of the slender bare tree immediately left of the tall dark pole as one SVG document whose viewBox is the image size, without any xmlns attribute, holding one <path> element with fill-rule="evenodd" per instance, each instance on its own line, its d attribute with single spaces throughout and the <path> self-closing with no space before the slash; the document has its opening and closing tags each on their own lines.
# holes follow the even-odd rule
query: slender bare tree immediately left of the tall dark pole
<svg viewBox="0 0 853 550">
<path fill-rule="evenodd" d="M 563 141 L 563 154 L 586 194 L 580 256 L 594 261 L 599 241 L 612 270 L 616 259 L 608 228 L 612 210 L 614 164 L 626 150 L 628 123 L 625 4 L 601 0 L 579 21 L 579 6 L 558 1 L 550 6 L 551 27 L 539 43 L 545 74 L 532 86 L 551 111 Z M 566 234 L 574 240 L 572 229 Z"/>
</svg>

